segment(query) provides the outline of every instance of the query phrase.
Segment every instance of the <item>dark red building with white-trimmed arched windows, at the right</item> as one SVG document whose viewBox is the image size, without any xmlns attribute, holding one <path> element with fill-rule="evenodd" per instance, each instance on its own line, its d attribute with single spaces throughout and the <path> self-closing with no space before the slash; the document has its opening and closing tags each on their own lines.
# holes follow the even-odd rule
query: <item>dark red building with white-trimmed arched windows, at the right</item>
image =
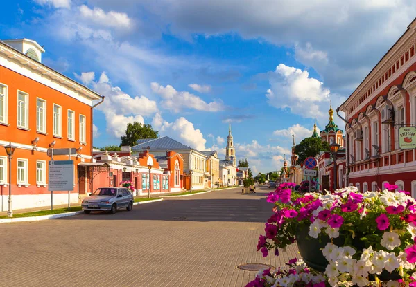
<svg viewBox="0 0 416 287">
<path fill-rule="evenodd" d="M 347 121 L 348 182 L 385 182 L 416 195 L 416 151 L 399 147 L 399 127 L 416 124 L 416 19 L 338 108 Z"/>
</svg>

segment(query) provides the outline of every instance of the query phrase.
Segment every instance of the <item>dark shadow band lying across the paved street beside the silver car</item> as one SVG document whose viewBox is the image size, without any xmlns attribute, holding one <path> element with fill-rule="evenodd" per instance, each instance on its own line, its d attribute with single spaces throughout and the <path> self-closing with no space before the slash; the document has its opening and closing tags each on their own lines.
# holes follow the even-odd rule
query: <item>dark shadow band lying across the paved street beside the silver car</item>
<svg viewBox="0 0 416 287">
<path fill-rule="evenodd" d="M 148 221 L 234 221 L 264 223 L 272 215 L 271 203 L 266 201 L 266 192 L 225 194 L 225 198 L 166 198 L 157 203 L 135 205 L 128 212 L 116 214 L 92 212 L 67 217 L 62 220 L 148 220 Z M 202 196 L 202 195 L 201 195 Z M 195 196 L 197 197 L 197 196 Z M 241 198 L 240 198 L 241 197 Z"/>
</svg>

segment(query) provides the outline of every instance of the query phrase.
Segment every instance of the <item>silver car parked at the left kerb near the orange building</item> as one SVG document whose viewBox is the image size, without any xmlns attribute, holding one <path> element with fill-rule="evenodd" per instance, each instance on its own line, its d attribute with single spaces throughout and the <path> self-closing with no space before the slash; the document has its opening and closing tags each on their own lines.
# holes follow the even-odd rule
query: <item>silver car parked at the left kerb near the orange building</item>
<svg viewBox="0 0 416 287">
<path fill-rule="evenodd" d="M 120 208 L 132 210 L 134 201 L 132 193 L 125 187 L 100 187 L 85 198 L 81 206 L 86 214 L 92 210 L 115 214 Z"/>
</svg>

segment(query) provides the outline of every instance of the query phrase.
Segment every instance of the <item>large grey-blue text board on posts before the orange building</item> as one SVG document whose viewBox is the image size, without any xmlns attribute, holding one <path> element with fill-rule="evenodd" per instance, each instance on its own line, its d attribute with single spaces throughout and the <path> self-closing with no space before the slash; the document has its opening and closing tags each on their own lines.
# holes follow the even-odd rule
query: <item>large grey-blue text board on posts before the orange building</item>
<svg viewBox="0 0 416 287">
<path fill-rule="evenodd" d="M 48 178 L 50 192 L 72 191 L 73 160 L 49 160 Z"/>
</svg>

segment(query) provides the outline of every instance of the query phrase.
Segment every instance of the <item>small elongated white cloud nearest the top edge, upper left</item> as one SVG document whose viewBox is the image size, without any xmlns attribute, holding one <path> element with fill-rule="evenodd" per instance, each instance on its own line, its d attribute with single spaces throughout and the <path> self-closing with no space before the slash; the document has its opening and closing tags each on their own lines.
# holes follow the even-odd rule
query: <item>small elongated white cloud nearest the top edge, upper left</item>
<svg viewBox="0 0 416 287">
<path fill-rule="evenodd" d="M 127 14 L 121 12 L 104 12 L 101 8 L 89 8 L 86 5 L 79 7 L 81 17 L 92 21 L 100 26 L 108 26 L 114 28 L 131 28 L 132 19 Z"/>
</svg>

